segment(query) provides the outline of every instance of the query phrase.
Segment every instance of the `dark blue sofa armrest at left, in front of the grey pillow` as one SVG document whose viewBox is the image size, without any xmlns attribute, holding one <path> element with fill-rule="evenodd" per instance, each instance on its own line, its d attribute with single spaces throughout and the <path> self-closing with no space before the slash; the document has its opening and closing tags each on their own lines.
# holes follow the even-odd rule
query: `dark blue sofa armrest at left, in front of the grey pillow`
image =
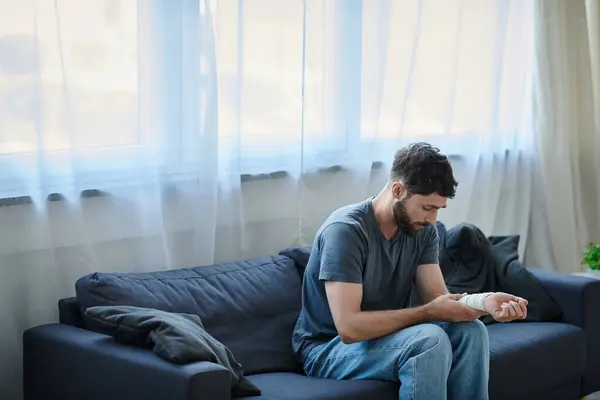
<svg viewBox="0 0 600 400">
<path fill-rule="evenodd" d="M 23 391 L 34 399 L 231 399 L 231 375 L 221 365 L 176 365 L 152 351 L 66 324 L 23 334 Z"/>
</svg>

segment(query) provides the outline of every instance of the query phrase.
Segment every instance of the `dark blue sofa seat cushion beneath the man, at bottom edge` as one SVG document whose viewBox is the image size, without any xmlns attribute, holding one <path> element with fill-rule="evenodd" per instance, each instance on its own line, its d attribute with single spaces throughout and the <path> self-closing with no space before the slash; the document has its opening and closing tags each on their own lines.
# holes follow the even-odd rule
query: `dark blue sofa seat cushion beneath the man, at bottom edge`
<svg viewBox="0 0 600 400">
<path fill-rule="evenodd" d="M 286 372 L 251 375 L 248 379 L 262 395 L 243 398 L 247 400 L 397 400 L 400 388 L 392 382 L 337 381 Z"/>
</svg>

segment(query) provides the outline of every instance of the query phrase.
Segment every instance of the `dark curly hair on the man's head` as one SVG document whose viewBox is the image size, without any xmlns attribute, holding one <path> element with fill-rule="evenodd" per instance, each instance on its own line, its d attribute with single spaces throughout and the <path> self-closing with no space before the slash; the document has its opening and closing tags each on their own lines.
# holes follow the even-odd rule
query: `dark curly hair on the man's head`
<svg viewBox="0 0 600 400">
<path fill-rule="evenodd" d="M 458 185 L 448 157 L 424 142 L 413 143 L 396 152 L 390 178 L 404 183 L 409 196 L 437 193 L 451 199 Z"/>
</svg>

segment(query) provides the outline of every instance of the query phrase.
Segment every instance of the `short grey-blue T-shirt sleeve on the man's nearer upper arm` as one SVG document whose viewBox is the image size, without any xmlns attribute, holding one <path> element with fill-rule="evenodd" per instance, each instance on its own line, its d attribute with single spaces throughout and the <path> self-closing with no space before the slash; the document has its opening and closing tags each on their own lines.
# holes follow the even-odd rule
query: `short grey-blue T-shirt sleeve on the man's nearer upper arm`
<svg viewBox="0 0 600 400">
<path fill-rule="evenodd" d="M 351 224 L 333 223 L 321 232 L 319 279 L 362 283 L 366 245 Z"/>
</svg>

